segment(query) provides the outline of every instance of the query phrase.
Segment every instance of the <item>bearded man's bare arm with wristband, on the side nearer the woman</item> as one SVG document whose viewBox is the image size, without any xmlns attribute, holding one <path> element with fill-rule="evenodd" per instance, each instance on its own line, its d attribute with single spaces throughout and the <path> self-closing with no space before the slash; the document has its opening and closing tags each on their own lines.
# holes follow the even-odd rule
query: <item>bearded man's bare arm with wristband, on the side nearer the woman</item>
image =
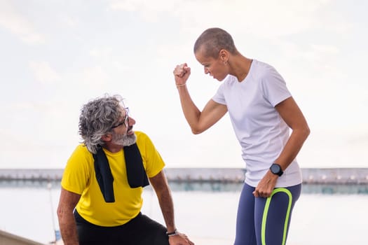
<svg viewBox="0 0 368 245">
<path fill-rule="evenodd" d="M 172 202 L 170 188 L 164 172 L 159 172 L 156 176 L 150 178 L 149 181 L 156 192 L 168 233 L 175 232 L 174 204 Z M 170 245 L 193 245 L 193 242 L 190 241 L 186 235 L 180 232 L 175 236 L 170 236 L 169 243 Z"/>
</svg>

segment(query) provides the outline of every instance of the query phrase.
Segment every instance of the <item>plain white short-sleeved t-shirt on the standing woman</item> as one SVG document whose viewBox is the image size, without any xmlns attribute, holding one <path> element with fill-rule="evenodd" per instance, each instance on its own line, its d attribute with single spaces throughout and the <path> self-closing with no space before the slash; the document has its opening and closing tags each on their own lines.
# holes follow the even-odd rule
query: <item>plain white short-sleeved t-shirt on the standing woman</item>
<svg viewBox="0 0 368 245">
<path fill-rule="evenodd" d="M 275 106 L 291 96 L 278 71 L 253 59 L 241 83 L 229 75 L 212 97 L 214 102 L 227 106 L 246 163 L 245 183 L 250 186 L 257 186 L 289 138 L 289 127 Z M 278 178 L 276 187 L 299 183 L 301 171 L 294 160 Z"/>
</svg>

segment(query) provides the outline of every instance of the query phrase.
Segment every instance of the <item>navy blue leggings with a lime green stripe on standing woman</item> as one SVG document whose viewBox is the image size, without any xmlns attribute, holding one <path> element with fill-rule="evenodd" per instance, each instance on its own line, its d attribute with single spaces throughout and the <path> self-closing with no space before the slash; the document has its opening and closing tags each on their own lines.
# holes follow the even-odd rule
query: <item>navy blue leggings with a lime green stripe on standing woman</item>
<svg viewBox="0 0 368 245">
<path fill-rule="evenodd" d="M 301 184 L 275 188 L 268 198 L 254 197 L 254 189 L 245 183 L 240 194 L 234 245 L 284 245 Z"/>
</svg>

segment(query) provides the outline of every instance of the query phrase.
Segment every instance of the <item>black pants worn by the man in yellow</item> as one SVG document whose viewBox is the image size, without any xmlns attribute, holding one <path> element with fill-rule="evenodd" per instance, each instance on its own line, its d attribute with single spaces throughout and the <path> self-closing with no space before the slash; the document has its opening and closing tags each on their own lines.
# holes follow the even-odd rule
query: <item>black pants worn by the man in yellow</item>
<svg viewBox="0 0 368 245">
<path fill-rule="evenodd" d="M 74 218 L 80 245 L 169 245 L 166 228 L 141 213 L 115 227 L 93 225 L 76 210 Z"/>
</svg>

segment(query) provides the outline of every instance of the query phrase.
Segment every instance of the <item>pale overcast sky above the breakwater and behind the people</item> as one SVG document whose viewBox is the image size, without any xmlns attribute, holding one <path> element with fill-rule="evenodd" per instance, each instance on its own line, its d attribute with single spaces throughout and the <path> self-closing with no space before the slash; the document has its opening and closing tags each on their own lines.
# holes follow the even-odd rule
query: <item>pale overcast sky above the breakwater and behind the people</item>
<svg viewBox="0 0 368 245">
<path fill-rule="evenodd" d="M 81 106 L 121 94 L 167 167 L 245 167 L 229 116 L 186 124 L 172 71 L 191 67 L 198 108 L 221 84 L 193 43 L 228 31 L 271 64 L 311 128 L 301 167 L 368 167 L 365 0 L 0 0 L 0 168 L 62 168 L 81 142 Z"/>
</svg>

